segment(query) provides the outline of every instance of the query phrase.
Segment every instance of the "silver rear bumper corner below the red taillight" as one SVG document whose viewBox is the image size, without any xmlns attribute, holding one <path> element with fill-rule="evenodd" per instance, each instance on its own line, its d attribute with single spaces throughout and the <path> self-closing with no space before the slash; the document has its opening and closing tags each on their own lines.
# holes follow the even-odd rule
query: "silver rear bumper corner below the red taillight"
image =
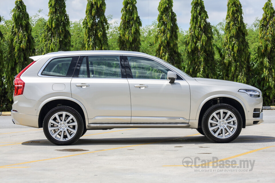
<svg viewBox="0 0 275 183">
<path fill-rule="evenodd" d="M 14 124 L 38 128 L 38 116 L 11 111 Z"/>
</svg>

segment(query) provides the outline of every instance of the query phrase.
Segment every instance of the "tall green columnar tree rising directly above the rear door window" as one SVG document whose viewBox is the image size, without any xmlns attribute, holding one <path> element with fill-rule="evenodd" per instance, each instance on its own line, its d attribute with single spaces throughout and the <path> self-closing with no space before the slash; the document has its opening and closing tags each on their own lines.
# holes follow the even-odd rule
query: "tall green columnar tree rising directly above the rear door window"
<svg viewBox="0 0 275 183">
<path fill-rule="evenodd" d="M 109 23 L 105 17 L 105 0 L 88 0 L 83 21 L 86 50 L 107 50 Z"/>
</svg>

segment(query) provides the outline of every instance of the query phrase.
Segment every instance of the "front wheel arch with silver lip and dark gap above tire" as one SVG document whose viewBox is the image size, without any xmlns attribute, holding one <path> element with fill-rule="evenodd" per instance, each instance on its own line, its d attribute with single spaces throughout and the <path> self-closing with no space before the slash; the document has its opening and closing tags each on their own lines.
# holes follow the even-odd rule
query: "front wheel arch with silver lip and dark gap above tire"
<svg viewBox="0 0 275 183">
<path fill-rule="evenodd" d="M 239 98 L 232 95 L 215 95 L 203 100 L 203 102 L 201 102 L 199 106 L 196 116 L 196 119 L 198 120 L 198 128 L 201 127 L 201 121 L 205 111 L 215 104 L 229 104 L 236 108 L 241 114 L 243 122 L 242 128 L 245 128 L 245 121 L 247 119 L 247 109 L 245 107 L 245 104 Z"/>
</svg>

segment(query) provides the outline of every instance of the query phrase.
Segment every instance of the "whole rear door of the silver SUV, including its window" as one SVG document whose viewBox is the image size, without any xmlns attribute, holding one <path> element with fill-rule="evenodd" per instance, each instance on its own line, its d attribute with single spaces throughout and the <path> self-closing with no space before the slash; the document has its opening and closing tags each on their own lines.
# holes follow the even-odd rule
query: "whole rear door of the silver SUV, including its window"
<svg viewBox="0 0 275 183">
<path fill-rule="evenodd" d="M 131 98 L 122 56 L 81 56 L 71 81 L 72 98 L 86 108 L 89 123 L 130 123 Z"/>
</svg>

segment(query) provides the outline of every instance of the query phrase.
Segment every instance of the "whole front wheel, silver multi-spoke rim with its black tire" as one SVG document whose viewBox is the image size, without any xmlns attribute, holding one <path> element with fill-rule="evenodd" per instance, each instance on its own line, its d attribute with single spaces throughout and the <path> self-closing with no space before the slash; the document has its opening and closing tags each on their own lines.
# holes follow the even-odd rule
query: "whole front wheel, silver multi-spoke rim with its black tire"
<svg viewBox="0 0 275 183">
<path fill-rule="evenodd" d="M 241 132 L 242 119 L 239 112 L 228 104 L 211 106 L 203 115 L 202 129 L 214 142 L 230 142 Z"/>
</svg>

